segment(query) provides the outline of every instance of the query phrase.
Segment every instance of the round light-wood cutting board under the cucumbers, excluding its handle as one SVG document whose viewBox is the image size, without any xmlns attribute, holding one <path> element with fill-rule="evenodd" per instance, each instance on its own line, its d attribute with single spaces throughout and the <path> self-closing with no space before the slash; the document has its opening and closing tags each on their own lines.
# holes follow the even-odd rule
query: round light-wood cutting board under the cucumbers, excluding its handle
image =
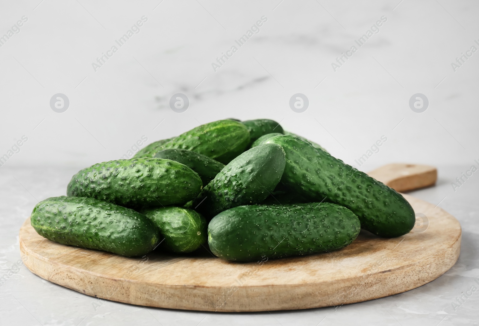
<svg viewBox="0 0 479 326">
<path fill-rule="evenodd" d="M 70 247 L 20 229 L 25 265 L 45 280 L 91 296 L 152 307 L 266 311 L 350 304 L 433 281 L 459 257 L 461 226 L 452 215 L 404 195 L 424 224 L 399 238 L 361 232 L 331 253 L 252 263 L 150 253 L 125 258 Z"/>
</svg>

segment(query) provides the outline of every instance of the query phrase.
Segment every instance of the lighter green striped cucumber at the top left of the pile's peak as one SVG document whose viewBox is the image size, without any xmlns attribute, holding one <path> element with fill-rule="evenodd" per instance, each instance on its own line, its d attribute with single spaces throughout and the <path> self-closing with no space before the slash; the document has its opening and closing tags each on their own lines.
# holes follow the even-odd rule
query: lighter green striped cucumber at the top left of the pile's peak
<svg viewBox="0 0 479 326">
<path fill-rule="evenodd" d="M 244 124 L 233 120 L 218 120 L 174 137 L 157 150 L 187 149 L 228 164 L 249 144 L 250 132 Z M 153 153 L 153 156 L 154 154 L 156 153 Z"/>
</svg>

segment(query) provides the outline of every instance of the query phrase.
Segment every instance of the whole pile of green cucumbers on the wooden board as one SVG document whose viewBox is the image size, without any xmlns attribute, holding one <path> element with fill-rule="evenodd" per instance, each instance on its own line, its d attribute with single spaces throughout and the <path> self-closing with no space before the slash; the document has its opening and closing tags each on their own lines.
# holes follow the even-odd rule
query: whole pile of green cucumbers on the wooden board
<svg viewBox="0 0 479 326">
<path fill-rule="evenodd" d="M 273 120 L 219 120 L 95 164 L 31 224 L 61 244 L 143 256 L 199 248 L 234 261 L 330 252 L 360 229 L 411 231 L 404 197 Z"/>
</svg>

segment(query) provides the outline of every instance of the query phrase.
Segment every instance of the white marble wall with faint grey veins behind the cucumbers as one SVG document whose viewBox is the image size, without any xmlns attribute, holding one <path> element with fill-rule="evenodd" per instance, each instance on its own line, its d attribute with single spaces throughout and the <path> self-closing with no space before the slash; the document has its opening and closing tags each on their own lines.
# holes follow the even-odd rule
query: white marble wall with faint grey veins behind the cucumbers
<svg viewBox="0 0 479 326">
<path fill-rule="evenodd" d="M 5 165 L 89 166 L 142 135 L 228 117 L 274 119 L 349 164 L 387 136 L 363 170 L 479 158 L 479 51 L 451 67 L 479 39 L 476 1 L 160 1 L 0 3 L 0 35 L 28 18 L 0 47 L 0 156 L 28 137 Z M 263 15 L 260 33 L 214 72 Z M 380 32 L 334 72 L 331 62 L 383 15 Z M 91 63 L 142 16 L 140 32 L 95 72 Z M 191 101 L 184 113 L 169 108 L 177 92 Z M 298 92 L 310 102 L 303 113 L 288 105 Z M 50 108 L 55 93 L 68 96 L 66 112 Z M 429 98 L 425 112 L 410 109 L 414 93 Z"/>
</svg>

